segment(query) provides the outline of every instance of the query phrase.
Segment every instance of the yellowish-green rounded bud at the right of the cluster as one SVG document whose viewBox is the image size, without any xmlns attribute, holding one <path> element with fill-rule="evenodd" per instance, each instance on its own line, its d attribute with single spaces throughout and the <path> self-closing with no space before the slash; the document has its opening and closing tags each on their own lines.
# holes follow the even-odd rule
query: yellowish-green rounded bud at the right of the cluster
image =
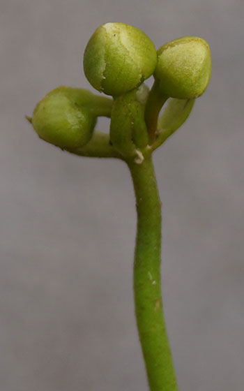
<svg viewBox="0 0 244 391">
<path fill-rule="evenodd" d="M 165 96 L 197 98 L 204 93 L 211 77 L 208 43 L 202 38 L 186 36 L 162 45 L 154 77 Z"/>
</svg>

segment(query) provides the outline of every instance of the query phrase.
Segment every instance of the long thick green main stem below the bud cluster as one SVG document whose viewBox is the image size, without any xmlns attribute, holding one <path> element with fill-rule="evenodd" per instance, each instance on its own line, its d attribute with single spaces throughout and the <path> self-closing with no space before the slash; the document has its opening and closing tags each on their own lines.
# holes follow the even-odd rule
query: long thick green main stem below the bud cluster
<svg viewBox="0 0 244 391">
<path fill-rule="evenodd" d="M 176 391 L 160 288 L 161 202 L 151 157 L 128 163 L 137 203 L 135 314 L 151 391 Z"/>
</svg>

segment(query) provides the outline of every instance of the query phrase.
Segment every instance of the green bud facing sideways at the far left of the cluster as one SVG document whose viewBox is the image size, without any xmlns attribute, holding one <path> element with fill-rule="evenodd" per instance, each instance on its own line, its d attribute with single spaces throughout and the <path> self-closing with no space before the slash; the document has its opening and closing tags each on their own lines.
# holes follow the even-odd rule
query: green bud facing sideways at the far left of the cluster
<svg viewBox="0 0 244 391">
<path fill-rule="evenodd" d="M 58 87 L 36 105 L 31 123 L 43 140 L 61 148 L 82 147 L 91 139 L 96 117 L 89 109 L 93 94 Z"/>
</svg>

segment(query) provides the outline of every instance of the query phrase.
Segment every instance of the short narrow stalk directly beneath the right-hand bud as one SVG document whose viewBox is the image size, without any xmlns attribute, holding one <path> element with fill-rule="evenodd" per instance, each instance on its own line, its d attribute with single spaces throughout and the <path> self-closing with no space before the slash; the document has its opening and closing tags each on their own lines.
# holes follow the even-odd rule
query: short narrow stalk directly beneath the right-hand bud
<svg viewBox="0 0 244 391">
<path fill-rule="evenodd" d="M 153 144 L 157 137 L 158 115 L 162 106 L 167 101 L 168 96 L 163 96 L 160 92 L 159 82 L 155 80 L 153 87 L 148 94 L 145 108 L 145 121 L 148 128 L 149 144 Z"/>
</svg>

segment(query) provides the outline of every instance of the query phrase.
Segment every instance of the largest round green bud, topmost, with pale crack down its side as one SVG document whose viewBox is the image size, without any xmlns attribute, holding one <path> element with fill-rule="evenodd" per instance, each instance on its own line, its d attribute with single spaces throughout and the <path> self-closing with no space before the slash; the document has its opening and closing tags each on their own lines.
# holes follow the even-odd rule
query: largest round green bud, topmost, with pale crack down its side
<svg viewBox="0 0 244 391">
<path fill-rule="evenodd" d="M 84 73 L 91 85 L 119 96 L 149 78 L 157 64 L 152 41 L 143 31 L 124 23 L 98 27 L 84 51 Z"/>
</svg>

